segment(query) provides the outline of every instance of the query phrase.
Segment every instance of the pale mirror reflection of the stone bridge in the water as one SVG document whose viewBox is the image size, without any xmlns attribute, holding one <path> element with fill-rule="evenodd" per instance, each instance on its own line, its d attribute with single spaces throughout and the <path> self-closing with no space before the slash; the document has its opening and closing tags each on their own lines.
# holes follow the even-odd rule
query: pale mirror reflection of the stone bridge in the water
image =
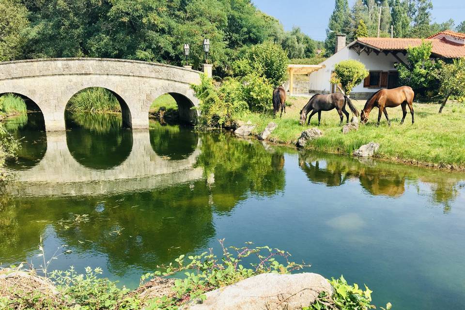
<svg viewBox="0 0 465 310">
<path fill-rule="evenodd" d="M 18 196 L 93 196 L 126 193 L 172 186 L 202 179 L 203 169 L 196 168 L 201 153 L 196 149 L 186 158 L 170 160 L 157 155 L 148 130 L 133 131 L 131 153 L 119 166 L 96 170 L 79 164 L 71 155 L 66 132 L 47 133 L 47 151 L 34 167 L 13 172 L 14 182 L 7 190 Z"/>
</svg>

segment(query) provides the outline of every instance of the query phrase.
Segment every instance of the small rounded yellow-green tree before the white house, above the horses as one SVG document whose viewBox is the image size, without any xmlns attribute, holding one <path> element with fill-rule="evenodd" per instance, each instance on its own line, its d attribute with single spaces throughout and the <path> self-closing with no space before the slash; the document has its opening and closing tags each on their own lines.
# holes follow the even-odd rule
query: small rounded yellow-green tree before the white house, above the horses
<svg viewBox="0 0 465 310">
<path fill-rule="evenodd" d="M 365 65 L 356 60 L 345 60 L 337 63 L 334 66 L 334 73 L 335 76 L 331 78 L 331 83 L 341 83 L 346 94 L 350 94 L 352 89 L 369 75 Z"/>
</svg>

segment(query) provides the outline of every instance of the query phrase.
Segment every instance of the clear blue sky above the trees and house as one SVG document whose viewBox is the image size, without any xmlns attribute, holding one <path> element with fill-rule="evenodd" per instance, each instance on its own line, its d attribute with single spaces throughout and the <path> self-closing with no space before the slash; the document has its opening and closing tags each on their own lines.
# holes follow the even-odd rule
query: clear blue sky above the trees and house
<svg viewBox="0 0 465 310">
<path fill-rule="evenodd" d="M 299 26 L 315 40 L 325 39 L 325 29 L 334 9 L 334 0 L 252 0 L 264 13 L 275 16 L 285 30 Z M 353 5 L 355 0 L 349 0 Z M 458 25 L 465 19 L 464 0 L 433 0 L 433 21 L 442 23 L 449 18 Z"/>
</svg>

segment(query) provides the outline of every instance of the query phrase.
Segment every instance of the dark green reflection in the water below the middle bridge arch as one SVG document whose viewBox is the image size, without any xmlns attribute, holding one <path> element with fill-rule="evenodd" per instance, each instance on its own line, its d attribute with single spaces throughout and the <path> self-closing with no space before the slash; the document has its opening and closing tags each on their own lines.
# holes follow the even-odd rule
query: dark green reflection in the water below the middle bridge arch
<svg viewBox="0 0 465 310">
<path fill-rule="evenodd" d="M 91 169 L 121 165 L 132 149 L 132 132 L 120 114 L 66 113 L 66 141 L 78 163 Z"/>
</svg>

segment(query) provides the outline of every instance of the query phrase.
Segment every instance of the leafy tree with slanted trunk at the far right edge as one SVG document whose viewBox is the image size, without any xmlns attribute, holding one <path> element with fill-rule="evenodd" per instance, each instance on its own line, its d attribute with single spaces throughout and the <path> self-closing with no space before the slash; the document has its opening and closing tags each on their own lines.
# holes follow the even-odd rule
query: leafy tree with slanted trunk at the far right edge
<svg viewBox="0 0 465 310">
<path fill-rule="evenodd" d="M 441 81 L 439 94 L 444 97 L 439 109 L 441 113 L 450 96 L 465 95 L 465 59 L 454 59 L 450 64 L 443 64 L 438 79 Z"/>
</svg>

